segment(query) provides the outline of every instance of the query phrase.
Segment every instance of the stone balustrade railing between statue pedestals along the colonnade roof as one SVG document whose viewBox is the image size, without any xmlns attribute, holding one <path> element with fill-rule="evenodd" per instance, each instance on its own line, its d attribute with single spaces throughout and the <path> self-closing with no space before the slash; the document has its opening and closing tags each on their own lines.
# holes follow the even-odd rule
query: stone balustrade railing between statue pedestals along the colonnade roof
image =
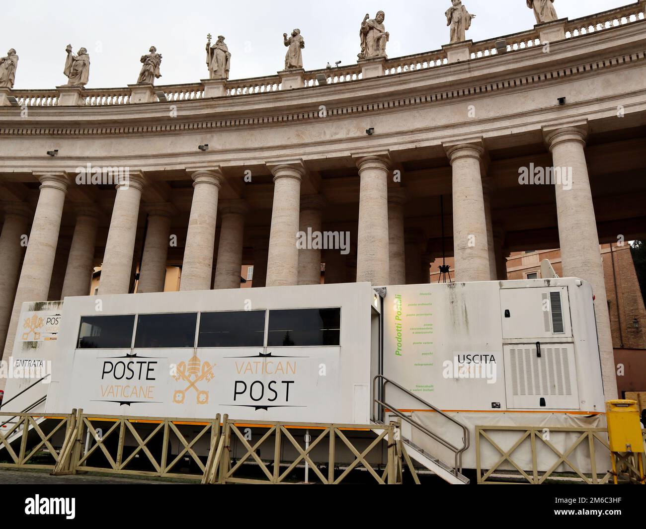
<svg viewBox="0 0 646 529">
<path fill-rule="evenodd" d="M 581 17 L 574 20 L 565 19 L 565 38 L 584 36 L 590 33 L 616 28 L 621 25 L 643 21 L 646 2 L 641 0 L 621 8 L 602 13 Z M 502 42 L 504 41 L 504 43 Z M 498 46 L 496 46 L 496 44 Z M 499 54 L 499 47 L 506 52 L 514 52 L 540 46 L 539 30 L 532 28 L 525 32 L 497 37 L 473 43 L 470 47 L 471 59 L 480 59 Z M 394 57 L 384 62 L 384 75 L 391 76 L 418 70 L 428 70 L 448 63 L 446 50 L 435 50 L 404 57 Z M 303 88 L 317 87 L 318 79 L 325 76 L 326 85 L 335 85 L 362 79 L 360 65 L 348 65 L 334 68 L 309 70 L 303 75 Z M 280 76 L 265 76 L 261 78 L 235 79 L 227 81 L 226 96 L 244 96 L 249 94 L 266 94 L 278 92 L 281 89 Z M 183 85 L 167 85 L 154 87 L 156 92 L 163 92 L 167 101 L 194 101 L 203 99 L 204 86 L 202 83 Z M 59 94 L 52 90 L 12 90 L 11 96 L 16 98 L 20 107 L 56 107 Z M 114 105 L 129 105 L 130 88 L 91 88 L 83 90 L 82 104 L 87 107 L 106 107 Z"/>
</svg>

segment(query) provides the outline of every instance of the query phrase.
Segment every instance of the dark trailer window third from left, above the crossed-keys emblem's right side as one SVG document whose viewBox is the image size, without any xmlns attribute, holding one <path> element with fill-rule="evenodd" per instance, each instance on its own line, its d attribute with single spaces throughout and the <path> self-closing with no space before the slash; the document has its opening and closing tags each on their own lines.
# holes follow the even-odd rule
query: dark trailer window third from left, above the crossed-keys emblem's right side
<svg viewBox="0 0 646 529">
<path fill-rule="evenodd" d="M 198 347 L 262 347 L 265 311 L 203 312 Z"/>
</svg>

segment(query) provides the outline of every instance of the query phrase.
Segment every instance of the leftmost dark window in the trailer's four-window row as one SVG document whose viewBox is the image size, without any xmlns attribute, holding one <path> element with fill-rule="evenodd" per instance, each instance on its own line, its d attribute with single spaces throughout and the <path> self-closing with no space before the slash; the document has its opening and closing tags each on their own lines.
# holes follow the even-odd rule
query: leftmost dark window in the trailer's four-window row
<svg viewBox="0 0 646 529">
<path fill-rule="evenodd" d="M 78 349 L 130 349 L 134 315 L 81 316 Z"/>
</svg>

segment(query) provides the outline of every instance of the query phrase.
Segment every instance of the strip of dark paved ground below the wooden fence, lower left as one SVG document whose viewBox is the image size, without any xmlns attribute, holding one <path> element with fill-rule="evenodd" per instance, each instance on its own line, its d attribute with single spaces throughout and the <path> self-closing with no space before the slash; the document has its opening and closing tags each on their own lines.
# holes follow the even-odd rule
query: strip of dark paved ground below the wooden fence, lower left
<svg viewBox="0 0 646 529">
<path fill-rule="evenodd" d="M 164 485 L 181 483 L 183 481 L 165 481 L 161 479 L 141 479 L 129 477 L 112 477 L 94 473 L 76 474 L 67 476 L 50 476 L 47 472 L 36 470 L 6 470 L 0 469 L 0 484 L 16 485 L 64 485 L 64 484 L 119 484 L 119 485 Z"/>
</svg>

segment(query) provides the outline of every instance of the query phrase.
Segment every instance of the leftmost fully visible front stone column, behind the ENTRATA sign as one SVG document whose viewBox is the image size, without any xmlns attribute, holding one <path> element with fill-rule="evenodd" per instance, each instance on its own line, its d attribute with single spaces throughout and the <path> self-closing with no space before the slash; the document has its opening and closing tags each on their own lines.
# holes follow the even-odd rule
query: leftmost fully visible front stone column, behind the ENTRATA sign
<svg viewBox="0 0 646 529">
<path fill-rule="evenodd" d="M 3 355 L 5 360 L 14 349 L 14 337 L 16 337 L 16 327 L 23 302 L 47 300 L 49 283 L 52 279 L 68 178 L 67 173 L 59 172 L 41 174 L 38 180 L 41 183 L 40 193 L 6 336 Z M 0 386 L 4 387 L 4 385 L 5 380 L 0 380 Z"/>
</svg>

